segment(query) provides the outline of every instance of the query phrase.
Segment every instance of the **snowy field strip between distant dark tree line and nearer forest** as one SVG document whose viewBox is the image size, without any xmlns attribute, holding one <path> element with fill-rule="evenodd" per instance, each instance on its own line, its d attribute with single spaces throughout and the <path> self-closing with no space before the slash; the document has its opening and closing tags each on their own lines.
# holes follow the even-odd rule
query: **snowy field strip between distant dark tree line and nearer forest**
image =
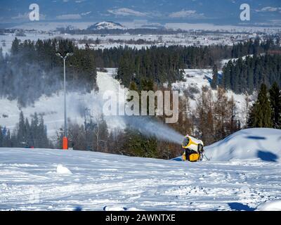
<svg viewBox="0 0 281 225">
<path fill-rule="evenodd" d="M 237 34 L 241 36 L 240 34 Z M 235 37 L 237 36 L 235 35 Z M 230 39 L 233 34 L 204 34 L 204 35 L 195 35 L 195 34 L 60 34 L 59 32 L 37 32 L 37 31 L 25 31 L 25 37 L 17 37 L 21 41 L 31 40 L 37 41 L 38 39 L 53 39 L 53 38 L 63 38 L 63 39 L 73 39 L 74 43 L 81 49 L 85 47 L 85 44 L 78 44 L 79 40 L 82 39 L 93 39 L 97 38 L 100 40 L 100 44 L 90 44 L 91 49 L 110 49 L 118 46 L 129 46 L 131 48 L 141 49 L 141 48 L 150 48 L 150 46 L 172 46 L 172 45 L 182 45 L 182 46 L 193 46 L 193 45 L 214 45 L 214 44 L 223 44 L 223 45 L 233 45 L 233 40 Z M 13 40 L 16 35 L 14 33 L 0 35 L 0 47 L 4 54 L 10 53 Z M 244 35 L 244 39 L 249 38 L 249 35 Z M 138 40 L 143 39 L 145 41 L 156 41 L 152 44 L 120 44 L 119 40 Z M 113 40 L 113 41 L 112 41 Z M 161 41 L 160 41 L 161 40 Z M 235 43 L 239 42 L 240 39 L 235 40 Z"/>
</svg>

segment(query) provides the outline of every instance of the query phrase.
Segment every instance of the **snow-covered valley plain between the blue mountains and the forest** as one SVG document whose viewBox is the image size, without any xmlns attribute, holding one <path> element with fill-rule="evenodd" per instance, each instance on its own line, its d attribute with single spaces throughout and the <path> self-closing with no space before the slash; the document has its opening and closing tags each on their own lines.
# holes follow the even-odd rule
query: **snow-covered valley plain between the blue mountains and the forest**
<svg viewBox="0 0 281 225">
<path fill-rule="evenodd" d="M 182 29 L 183 32 L 179 34 L 61 34 L 56 30 L 61 27 L 71 27 L 86 29 L 93 23 L 22 23 L 21 25 L 15 25 L 11 29 L 22 30 L 25 36 L 17 37 L 22 41 L 30 39 L 37 41 L 37 39 L 53 39 L 53 38 L 64 38 L 72 39 L 79 46 L 84 48 L 85 44 L 78 44 L 81 39 L 93 39 L 97 38 L 100 40 L 100 44 L 90 44 L 92 49 L 109 49 L 117 46 L 130 46 L 132 48 L 141 49 L 150 47 L 152 45 L 157 46 L 171 46 L 171 45 L 182 45 L 182 46 L 209 46 L 209 45 L 229 45 L 232 46 L 234 43 L 239 43 L 247 39 L 254 39 L 257 36 L 257 32 L 266 32 L 266 34 L 276 34 L 280 32 L 280 27 L 244 27 L 244 26 L 217 26 L 212 24 L 188 24 L 188 23 L 168 23 L 164 27 L 168 29 Z M 117 28 L 120 27 L 116 23 L 101 22 L 98 23 L 102 28 Z M 147 24 L 150 25 L 150 24 Z M 137 23 L 122 23 L 122 29 L 126 28 L 140 28 L 143 25 Z M 97 26 L 98 28 L 99 26 Z M 100 28 L 98 28 L 100 29 Z M 197 31 L 197 32 L 195 32 Z M 206 31 L 211 31 L 208 33 Z M 221 32 L 218 32 L 221 31 Z M 202 32 L 202 33 L 201 33 Z M 218 33 L 216 33 L 218 32 Z M 10 53 L 11 44 L 16 37 L 15 33 L 6 33 L 0 35 L 0 44 L 4 54 Z M 263 39 L 263 34 L 259 34 L 259 37 Z M 156 41 L 152 44 L 120 44 L 119 40 L 138 40 L 143 39 L 145 41 Z M 113 40 L 113 41 L 112 41 Z"/>
</svg>

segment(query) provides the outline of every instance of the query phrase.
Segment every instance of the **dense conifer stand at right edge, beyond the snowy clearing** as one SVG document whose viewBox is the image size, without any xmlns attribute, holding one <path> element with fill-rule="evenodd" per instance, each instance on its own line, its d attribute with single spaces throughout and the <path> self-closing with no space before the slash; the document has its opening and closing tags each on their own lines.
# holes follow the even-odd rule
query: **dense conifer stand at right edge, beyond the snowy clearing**
<svg viewBox="0 0 281 225">
<path fill-rule="evenodd" d="M 223 67 L 221 86 L 237 94 L 252 94 L 261 83 L 271 86 L 274 82 L 281 85 L 281 55 L 247 56 L 244 60 L 230 60 Z"/>
</svg>

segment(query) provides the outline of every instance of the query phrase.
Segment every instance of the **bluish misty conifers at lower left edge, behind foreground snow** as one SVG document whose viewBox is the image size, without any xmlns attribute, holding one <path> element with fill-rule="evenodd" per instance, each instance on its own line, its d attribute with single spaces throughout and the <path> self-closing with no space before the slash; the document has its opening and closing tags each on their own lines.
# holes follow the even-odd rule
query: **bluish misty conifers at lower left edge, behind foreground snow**
<svg viewBox="0 0 281 225">
<path fill-rule="evenodd" d="M 29 122 L 21 112 L 19 122 L 13 132 L 0 126 L 0 147 L 53 148 L 53 144 L 48 140 L 43 117 L 34 113 Z"/>
</svg>

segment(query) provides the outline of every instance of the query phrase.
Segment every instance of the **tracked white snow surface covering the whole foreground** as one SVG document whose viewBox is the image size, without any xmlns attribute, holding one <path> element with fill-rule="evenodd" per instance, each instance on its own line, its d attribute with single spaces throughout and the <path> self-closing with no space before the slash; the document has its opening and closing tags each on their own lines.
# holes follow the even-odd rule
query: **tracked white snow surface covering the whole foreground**
<svg viewBox="0 0 281 225">
<path fill-rule="evenodd" d="M 281 200 L 280 177 L 280 163 L 261 160 L 0 148 L 0 210 L 256 210 Z"/>
</svg>

